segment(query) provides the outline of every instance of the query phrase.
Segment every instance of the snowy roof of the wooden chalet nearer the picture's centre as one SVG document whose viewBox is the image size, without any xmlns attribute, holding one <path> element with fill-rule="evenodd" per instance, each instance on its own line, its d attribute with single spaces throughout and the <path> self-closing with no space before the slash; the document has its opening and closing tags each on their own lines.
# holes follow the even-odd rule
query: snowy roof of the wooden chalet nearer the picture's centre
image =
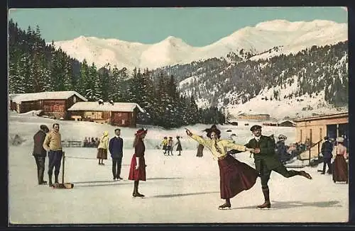
<svg viewBox="0 0 355 231">
<path fill-rule="evenodd" d="M 77 102 L 71 106 L 68 111 L 133 111 L 134 108 L 138 108 L 139 111 L 144 112 L 138 103 L 119 103 L 115 102 L 114 105 L 108 102 L 99 104 L 98 102 Z"/>
</svg>

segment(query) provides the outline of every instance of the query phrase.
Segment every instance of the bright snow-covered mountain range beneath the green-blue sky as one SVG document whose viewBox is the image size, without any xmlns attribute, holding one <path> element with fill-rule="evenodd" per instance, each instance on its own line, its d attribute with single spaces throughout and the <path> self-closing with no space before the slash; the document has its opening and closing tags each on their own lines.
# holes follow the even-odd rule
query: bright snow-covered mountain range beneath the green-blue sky
<svg viewBox="0 0 355 231">
<path fill-rule="evenodd" d="M 298 52 L 312 45 L 332 45 L 348 40 L 346 23 L 333 21 L 266 21 L 241 28 L 235 33 L 204 47 L 192 47 L 180 38 L 169 36 L 159 43 L 131 43 L 117 39 L 80 36 L 74 40 L 57 41 L 61 48 L 77 60 L 94 62 L 97 67 L 109 63 L 117 67 L 155 69 L 184 64 L 212 57 L 225 57 L 230 52 L 250 52 L 251 59 L 267 58 Z M 273 49 L 278 47 L 278 49 Z"/>
</svg>

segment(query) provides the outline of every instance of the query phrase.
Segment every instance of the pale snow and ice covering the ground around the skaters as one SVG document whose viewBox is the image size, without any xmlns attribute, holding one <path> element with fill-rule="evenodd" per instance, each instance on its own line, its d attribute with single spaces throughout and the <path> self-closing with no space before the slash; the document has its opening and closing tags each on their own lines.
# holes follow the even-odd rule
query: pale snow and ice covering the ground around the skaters
<svg viewBox="0 0 355 231">
<path fill-rule="evenodd" d="M 313 176 L 285 179 L 271 174 L 269 187 L 273 209 L 257 210 L 263 203 L 260 179 L 249 191 L 231 199 L 231 210 L 218 210 L 224 203 L 219 196 L 219 169 L 212 154 L 204 151 L 195 157 L 197 143 L 187 137 L 183 128 L 163 130 L 148 126 L 146 136 L 147 181 L 141 181 L 139 191 L 146 198 L 132 198 L 133 182 L 127 180 L 133 154 L 131 147 L 136 129 L 122 128 L 124 158 L 122 181 L 112 181 L 111 158 L 99 166 L 96 148 L 66 147 L 65 182 L 75 184 L 72 189 L 53 189 L 36 184 L 35 161 L 31 156 L 32 137 L 40 124 L 60 123 L 63 139 L 82 140 L 85 136 L 99 136 L 114 126 L 89 122 L 59 121 L 40 118 L 31 113 L 9 112 L 9 137 L 18 134 L 26 140 L 21 145 L 9 144 L 9 221 L 13 224 L 59 223 L 183 223 L 183 222 L 346 222 L 348 220 L 348 185 L 334 184 L 331 176 L 320 175 L 317 168 L 305 167 Z M 219 126 L 222 137 L 226 130 L 236 133 L 237 142 L 251 138 L 249 126 Z M 187 126 L 202 134 L 207 125 Z M 294 128 L 264 127 L 263 133 L 283 133 L 295 139 Z M 164 135 L 182 135 L 182 155 L 164 156 L 155 149 Z M 253 167 L 249 153 L 236 157 Z M 46 169 L 48 158 L 46 158 Z M 45 180 L 48 176 L 45 173 Z M 61 180 L 61 174 L 60 174 Z M 334 213 L 334 210 L 337 213 Z"/>
</svg>

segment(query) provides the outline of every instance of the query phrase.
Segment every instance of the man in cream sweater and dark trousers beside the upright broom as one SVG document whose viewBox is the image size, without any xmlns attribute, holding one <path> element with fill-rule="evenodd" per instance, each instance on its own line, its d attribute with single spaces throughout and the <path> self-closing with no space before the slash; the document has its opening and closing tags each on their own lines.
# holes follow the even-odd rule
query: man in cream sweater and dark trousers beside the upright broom
<svg viewBox="0 0 355 231">
<path fill-rule="evenodd" d="M 45 136 L 45 140 L 43 142 L 43 148 L 48 152 L 48 179 L 49 179 L 49 186 L 53 186 L 52 183 L 52 175 L 53 175 L 53 168 L 54 176 L 55 176 L 55 183 L 58 184 L 58 176 L 60 170 L 60 162 L 62 160 L 62 137 L 59 133 L 59 124 L 53 124 L 53 130 L 50 131 Z"/>
</svg>

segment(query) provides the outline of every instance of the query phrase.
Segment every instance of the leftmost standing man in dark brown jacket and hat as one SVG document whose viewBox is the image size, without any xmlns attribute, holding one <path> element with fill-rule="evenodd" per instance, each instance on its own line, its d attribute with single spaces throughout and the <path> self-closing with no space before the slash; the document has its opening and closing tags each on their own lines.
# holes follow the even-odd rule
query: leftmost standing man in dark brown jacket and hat
<svg viewBox="0 0 355 231">
<path fill-rule="evenodd" d="M 33 135 L 33 157 L 35 157 L 35 164 L 37 165 L 37 179 L 38 184 L 47 184 L 47 181 L 43 181 L 43 174 L 45 170 L 45 156 L 47 151 L 43 148 L 43 142 L 45 135 L 49 132 L 49 128 L 46 125 L 40 125 L 40 130 Z"/>
</svg>

